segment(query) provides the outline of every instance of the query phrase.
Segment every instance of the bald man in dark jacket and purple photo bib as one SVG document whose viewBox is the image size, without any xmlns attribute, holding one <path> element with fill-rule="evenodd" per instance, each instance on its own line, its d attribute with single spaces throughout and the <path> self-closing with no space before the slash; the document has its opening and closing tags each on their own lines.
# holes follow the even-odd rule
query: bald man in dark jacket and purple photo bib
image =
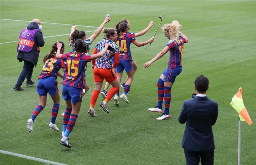
<svg viewBox="0 0 256 165">
<path fill-rule="evenodd" d="M 19 35 L 19 42 L 17 46 L 18 60 L 24 61 L 23 69 L 19 75 L 16 85 L 13 87 L 17 91 L 23 91 L 21 85 L 25 78 L 27 79 L 26 85 L 35 84 L 31 80 L 34 66 L 38 62 L 40 52 L 39 47 L 43 47 L 45 41 L 43 40 L 43 33 L 41 31 L 42 25 L 39 19 L 33 19 L 27 28 L 21 31 Z"/>
</svg>

